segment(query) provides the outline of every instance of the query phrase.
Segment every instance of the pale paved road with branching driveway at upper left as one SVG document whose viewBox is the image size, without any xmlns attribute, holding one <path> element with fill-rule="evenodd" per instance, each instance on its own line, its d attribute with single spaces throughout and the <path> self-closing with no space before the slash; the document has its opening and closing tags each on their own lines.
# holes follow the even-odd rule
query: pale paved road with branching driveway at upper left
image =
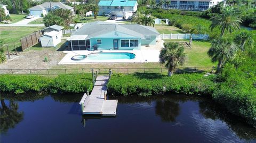
<svg viewBox="0 0 256 143">
<path fill-rule="evenodd" d="M 16 23 L 11 24 L 0 24 L 0 27 L 44 27 L 44 24 L 28 24 L 31 21 L 37 20 L 39 17 L 31 18 L 31 19 L 24 19 Z"/>
</svg>

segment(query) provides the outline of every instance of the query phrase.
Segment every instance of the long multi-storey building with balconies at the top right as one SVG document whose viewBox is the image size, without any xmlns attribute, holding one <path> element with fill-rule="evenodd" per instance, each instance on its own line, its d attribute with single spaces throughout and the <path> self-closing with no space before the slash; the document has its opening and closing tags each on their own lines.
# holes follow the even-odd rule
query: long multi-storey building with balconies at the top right
<svg viewBox="0 0 256 143">
<path fill-rule="evenodd" d="M 204 11 L 210 9 L 213 5 L 217 5 L 224 0 L 187 0 L 187 1 L 170 1 L 169 5 L 163 3 L 163 8 L 165 9 L 178 9 L 178 10 L 198 10 Z M 160 0 L 156 0 L 156 4 L 158 4 Z"/>
</svg>

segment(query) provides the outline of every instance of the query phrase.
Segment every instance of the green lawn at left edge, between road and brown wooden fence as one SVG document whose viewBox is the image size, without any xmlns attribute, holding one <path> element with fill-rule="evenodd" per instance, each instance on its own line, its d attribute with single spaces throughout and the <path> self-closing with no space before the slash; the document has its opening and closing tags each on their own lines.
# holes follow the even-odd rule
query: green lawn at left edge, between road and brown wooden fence
<svg viewBox="0 0 256 143">
<path fill-rule="evenodd" d="M 42 30 L 42 27 L 1 27 L 0 37 L 5 44 L 9 45 L 9 51 L 14 49 L 13 43 L 16 47 L 21 46 L 20 39 L 26 37 L 31 33 Z M 6 50 L 6 48 L 4 48 Z"/>
</svg>

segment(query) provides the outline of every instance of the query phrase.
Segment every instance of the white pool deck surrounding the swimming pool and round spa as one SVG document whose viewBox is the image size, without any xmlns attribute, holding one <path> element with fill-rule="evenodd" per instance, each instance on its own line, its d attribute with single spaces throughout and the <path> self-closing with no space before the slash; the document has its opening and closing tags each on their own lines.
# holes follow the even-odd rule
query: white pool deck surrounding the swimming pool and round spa
<svg viewBox="0 0 256 143">
<path fill-rule="evenodd" d="M 81 61 L 71 60 L 75 55 L 88 55 L 91 53 L 133 53 L 133 59 L 115 59 L 115 60 L 89 60 Z M 138 50 L 103 50 L 103 51 L 68 51 L 58 64 L 95 64 L 95 63 L 147 63 L 158 62 L 160 51 L 158 49 L 138 49 Z"/>
</svg>

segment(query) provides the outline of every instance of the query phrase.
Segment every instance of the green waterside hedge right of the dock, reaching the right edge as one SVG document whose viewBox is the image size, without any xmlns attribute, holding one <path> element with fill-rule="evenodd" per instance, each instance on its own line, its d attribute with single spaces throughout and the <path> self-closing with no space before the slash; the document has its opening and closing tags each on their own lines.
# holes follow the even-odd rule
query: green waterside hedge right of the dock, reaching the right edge
<svg viewBox="0 0 256 143">
<path fill-rule="evenodd" d="M 172 77 L 159 74 L 118 75 L 109 81 L 108 93 L 122 96 L 150 96 L 164 92 L 206 95 L 256 127 L 256 88 L 247 80 L 237 81 L 237 78 L 215 82 L 217 79 L 215 75 L 204 77 L 199 73 L 174 74 Z"/>
</svg>

